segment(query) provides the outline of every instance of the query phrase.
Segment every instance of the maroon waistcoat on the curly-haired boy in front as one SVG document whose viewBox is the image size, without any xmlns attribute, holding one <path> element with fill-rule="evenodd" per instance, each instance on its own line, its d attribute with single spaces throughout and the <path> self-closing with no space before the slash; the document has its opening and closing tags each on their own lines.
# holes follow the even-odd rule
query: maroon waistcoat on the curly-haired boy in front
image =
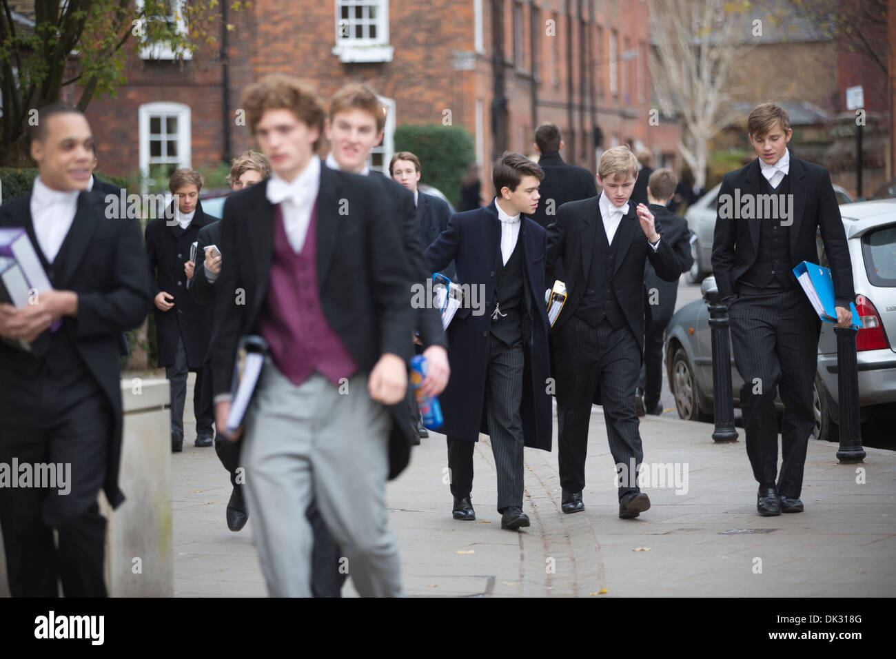
<svg viewBox="0 0 896 659">
<path fill-rule="evenodd" d="M 280 204 L 274 206 L 271 282 L 259 319 L 280 372 L 299 386 L 320 372 L 334 385 L 358 370 L 349 351 L 323 315 L 317 287 L 317 202 L 302 251 L 289 244 Z"/>
</svg>

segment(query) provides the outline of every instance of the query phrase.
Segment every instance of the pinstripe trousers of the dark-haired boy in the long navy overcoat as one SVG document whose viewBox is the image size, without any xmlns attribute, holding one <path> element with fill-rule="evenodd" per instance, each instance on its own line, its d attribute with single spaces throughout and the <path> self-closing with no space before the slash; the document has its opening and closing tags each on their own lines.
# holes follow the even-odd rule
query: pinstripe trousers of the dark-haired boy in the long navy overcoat
<svg viewBox="0 0 896 659">
<path fill-rule="evenodd" d="M 522 507 L 522 375 L 525 354 L 522 343 L 507 345 L 489 335 L 486 418 L 488 436 L 495 455 L 498 481 L 498 512 Z M 468 497 L 473 490 L 473 449 L 476 438 L 448 437 L 448 468 L 455 497 Z"/>
</svg>

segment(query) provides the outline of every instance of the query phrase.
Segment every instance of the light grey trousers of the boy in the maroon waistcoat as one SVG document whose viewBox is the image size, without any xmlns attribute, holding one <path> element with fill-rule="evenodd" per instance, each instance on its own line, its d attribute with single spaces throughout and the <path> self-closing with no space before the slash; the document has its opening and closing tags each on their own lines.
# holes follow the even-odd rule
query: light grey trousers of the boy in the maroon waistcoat
<svg viewBox="0 0 896 659">
<path fill-rule="evenodd" d="M 340 394 L 318 373 L 295 386 L 270 358 L 265 362 L 246 414 L 243 463 L 271 596 L 312 594 L 314 534 L 306 517 L 312 499 L 358 593 L 404 594 L 385 503 L 391 427 L 388 410 L 370 398 L 366 374 L 351 377 Z"/>
</svg>

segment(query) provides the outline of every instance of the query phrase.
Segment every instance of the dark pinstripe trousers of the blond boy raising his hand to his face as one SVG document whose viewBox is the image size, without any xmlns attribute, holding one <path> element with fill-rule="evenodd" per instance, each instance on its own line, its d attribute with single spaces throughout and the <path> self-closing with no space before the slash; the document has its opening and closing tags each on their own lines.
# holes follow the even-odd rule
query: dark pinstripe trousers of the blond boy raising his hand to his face
<svg viewBox="0 0 896 659">
<path fill-rule="evenodd" d="M 640 374 L 641 349 L 632 329 L 627 324 L 614 327 L 606 318 L 592 327 L 573 316 L 551 339 L 561 487 L 573 493 L 585 487 L 591 403 L 600 387 L 610 453 L 630 476 L 619 482 L 617 493 L 622 499 L 628 492 L 641 491 L 637 473 L 644 453 L 632 395 Z M 616 467 L 617 474 L 621 471 Z"/>
</svg>

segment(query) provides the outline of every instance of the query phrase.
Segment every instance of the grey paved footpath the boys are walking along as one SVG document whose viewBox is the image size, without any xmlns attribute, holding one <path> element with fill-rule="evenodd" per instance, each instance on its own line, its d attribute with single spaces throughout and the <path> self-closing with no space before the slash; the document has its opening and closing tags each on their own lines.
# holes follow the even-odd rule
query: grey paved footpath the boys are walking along
<svg viewBox="0 0 896 659">
<path fill-rule="evenodd" d="M 191 387 L 192 391 L 192 387 Z M 186 409 L 192 409 L 186 404 Z M 893 596 L 896 595 L 896 454 L 866 448 L 864 464 L 838 464 L 836 444 L 810 440 L 802 499 L 806 512 L 760 517 L 743 429 L 715 445 L 712 426 L 642 419 L 645 460 L 666 487 L 644 488 L 652 507 L 618 518 L 603 414 L 591 415 L 585 511 L 560 512 L 555 450 L 525 450 L 524 511 L 532 525 L 501 530 L 487 437 L 475 454 L 475 522 L 452 519 L 444 436 L 415 447 L 409 468 L 388 485 L 390 523 L 411 596 Z M 185 424 L 186 425 L 186 424 Z M 175 594 L 266 594 L 252 519 L 228 531 L 228 475 L 214 450 L 173 455 Z M 359 437 L 358 441 L 363 441 Z M 668 465 L 671 465 L 670 467 Z M 655 484 L 663 484 L 656 481 Z M 671 487 L 670 487 L 671 485 Z M 681 493 L 676 493 L 676 490 Z M 346 596 L 356 595 L 351 581 Z"/>
</svg>

